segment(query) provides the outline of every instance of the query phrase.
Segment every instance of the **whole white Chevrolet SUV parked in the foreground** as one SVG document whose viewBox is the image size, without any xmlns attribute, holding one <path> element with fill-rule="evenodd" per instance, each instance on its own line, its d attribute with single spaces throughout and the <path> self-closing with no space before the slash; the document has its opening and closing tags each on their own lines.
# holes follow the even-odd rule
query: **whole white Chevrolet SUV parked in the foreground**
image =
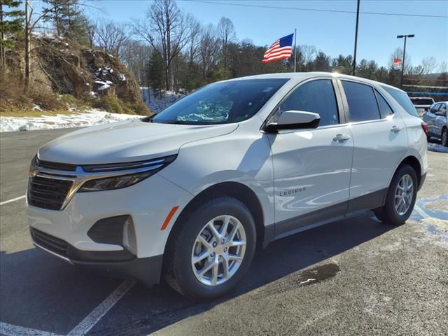
<svg viewBox="0 0 448 336">
<path fill-rule="evenodd" d="M 216 297 L 270 241 L 360 211 L 405 223 L 427 169 L 411 113 L 405 92 L 335 73 L 213 83 L 40 148 L 31 237 L 73 265 Z"/>
</svg>

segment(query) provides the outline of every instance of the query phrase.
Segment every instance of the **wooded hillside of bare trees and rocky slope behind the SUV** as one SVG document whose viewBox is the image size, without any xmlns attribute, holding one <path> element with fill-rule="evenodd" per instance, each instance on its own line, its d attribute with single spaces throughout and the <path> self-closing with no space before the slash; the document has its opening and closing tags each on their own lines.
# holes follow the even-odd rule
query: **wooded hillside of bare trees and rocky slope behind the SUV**
<svg viewBox="0 0 448 336">
<path fill-rule="evenodd" d="M 25 6 L 27 3 L 29 6 Z M 35 101 L 36 95 L 51 87 L 54 94 L 71 94 L 89 104 L 103 105 L 116 111 L 141 111 L 133 78 L 138 85 L 152 87 L 155 92 L 163 94 L 167 90 L 190 92 L 216 80 L 293 71 L 293 59 L 263 64 L 261 59 L 267 45 L 255 45 L 248 38 L 239 39 L 229 18 L 221 18 L 216 25 L 203 25 L 194 15 L 179 9 L 174 0 L 155 0 L 149 4 L 143 20 L 125 18 L 123 22 L 100 18 L 101 8 L 97 6 L 102 5 L 95 1 L 43 0 L 41 6 L 36 6 L 34 1 L 0 0 L 0 4 L 0 84 L 2 87 L 17 87 L 14 90 L 21 92 L 20 97 L 18 94 L 10 97 L 11 94 L 8 96 L 2 92 L 3 107 L 5 99 L 9 99 L 8 102 L 11 99 Z M 89 17 L 85 15 L 87 8 Z M 95 16 L 99 19 L 92 19 Z M 47 43 L 49 48 L 43 43 Z M 69 45 L 68 48 L 64 43 Z M 298 45 L 293 51 L 297 52 L 297 71 L 351 74 L 351 55 L 331 57 L 314 45 Z M 47 55 L 48 52 L 52 55 Z M 398 48 L 391 50 L 388 64 L 358 60 L 356 76 L 398 86 L 400 71 L 393 69 L 393 58 L 401 57 L 402 50 Z M 98 61 L 99 58 L 102 60 Z M 430 85 L 427 78 L 434 72 L 440 73 L 438 78 L 448 78 L 446 62 L 437 64 L 434 57 L 427 57 L 421 64 L 413 66 L 412 55 L 406 55 L 406 59 L 405 78 L 412 77 L 413 85 Z M 93 67 L 90 66 L 92 63 Z M 127 69 L 119 65 L 121 63 Z M 73 72 L 73 64 L 80 64 L 82 69 L 87 66 L 88 71 L 82 75 L 81 70 Z M 111 78 L 106 76 L 99 81 L 106 80 L 104 83 L 107 83 L 109 80 L 114 88 L 104 92 L 92 90 L 96 94 L 85 97 L 85 92 L 90 91 L 83 90 L 78 80 L 67 83 L 67 78 L 73 82 L 75 73 L 83 77 L 89 71 L 95 73 L 100 68 L 104 71 L 104 66 L 111 67 L 111 64 L 125 74 L 125 85 L 109 73 Z M 99 89 L 95 87 L 97 78 L 94 76 L 88 80 L 83 78 L 83 83 Z M 46 86 L 41 87 L 43 83 Z M 108 94 L 104 94 L 106 92 Z"/>
</svg>

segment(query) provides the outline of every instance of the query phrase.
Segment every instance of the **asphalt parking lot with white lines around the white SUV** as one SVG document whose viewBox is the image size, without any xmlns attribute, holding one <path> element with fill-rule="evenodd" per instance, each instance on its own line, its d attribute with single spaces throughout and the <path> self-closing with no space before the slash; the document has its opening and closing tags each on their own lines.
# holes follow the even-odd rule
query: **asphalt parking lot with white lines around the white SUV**
<svg viewBox="0 0 448 336">
<path fill-rule="evenodd" d="M 405 225 L 360 216 L 276 241 L 234 293 L 191 302 L 32 246 L 29 161 L 66 132 L 0 134 L 1 335 L 448 335 L 448 153 L 429 152 Z"/>
</svg>

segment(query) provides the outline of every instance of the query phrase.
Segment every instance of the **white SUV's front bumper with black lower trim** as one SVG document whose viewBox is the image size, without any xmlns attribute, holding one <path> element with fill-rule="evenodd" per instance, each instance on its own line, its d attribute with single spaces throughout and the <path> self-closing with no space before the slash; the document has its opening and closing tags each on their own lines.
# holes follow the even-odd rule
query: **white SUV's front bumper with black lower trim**
<svg viewBox="0 0 448 336">
<path fill-rule="evenodd" d="M 31 237 L 38 248 L 73 265 L 132 276 L 151 284 L 160 279 L 162 255 L 172 225 L 192 198 L 186 190 L 155 174 L 123 189 L 77 193 L 61 211 L 27 204 L 27 215 Z M 162 230 L 173 207 L 179 210 Z M 132 218 L 132 244 L 105 244 L 87 234 L 95 223 L 114 216 Z M 46 244 L 33 231 L 41 232 L 41 238 L 48 236 Z"/>
</svg>

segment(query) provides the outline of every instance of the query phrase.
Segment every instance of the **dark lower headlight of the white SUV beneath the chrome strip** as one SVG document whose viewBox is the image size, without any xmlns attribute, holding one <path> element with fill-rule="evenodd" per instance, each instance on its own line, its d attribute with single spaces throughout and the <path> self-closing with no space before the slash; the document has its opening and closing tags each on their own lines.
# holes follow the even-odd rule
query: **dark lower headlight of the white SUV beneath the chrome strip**
<svg viewBox="0 0 448 336">
<path fill-rule="evenodd" d="M 155 174 L 155 172 L 144 172 L 139 174 L 113 176 L 106 179 L 97 179 L 87 181 L 80 188 L 79 193 L 86 191 L 100 191 L 100 190 L 113 190 L 132 186 L 135 183 L 139 183 L 149 176 Z"/>
</svg>

